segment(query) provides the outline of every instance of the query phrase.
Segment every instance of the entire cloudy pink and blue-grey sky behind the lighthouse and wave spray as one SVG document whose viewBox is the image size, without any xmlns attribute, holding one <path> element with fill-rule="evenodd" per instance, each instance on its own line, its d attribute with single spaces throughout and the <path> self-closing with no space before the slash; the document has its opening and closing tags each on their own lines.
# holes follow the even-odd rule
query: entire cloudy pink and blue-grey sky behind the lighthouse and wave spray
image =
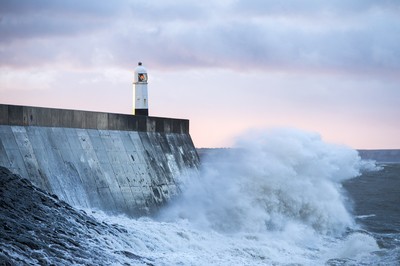
<svg viewBox="0 0 400 266">
<path fill-rule="evenodd" d="M 196 147 L 291 127 L 400 148 L 398 0 L 0 0 L 0 103 L 190 120 Z"/>
</svg>

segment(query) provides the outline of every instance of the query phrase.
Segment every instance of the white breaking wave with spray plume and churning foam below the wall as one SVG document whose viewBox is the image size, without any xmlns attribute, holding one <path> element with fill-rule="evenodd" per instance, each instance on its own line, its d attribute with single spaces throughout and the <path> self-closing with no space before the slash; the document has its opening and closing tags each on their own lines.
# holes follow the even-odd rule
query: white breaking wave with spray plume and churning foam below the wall
<svg viewBox="0 0 400 266">
<path fill-rule="evenodd" d="M 181 176 L 181 195 L 154 217 L 62 214 L 75 249 L 93 257 L 73 255 L 70 244 L 58 255 L 37 248 L 41 260 L 8 242 L 0 254 L 32 265 L 377 265 L 381 249 L 357 223 L 343 182 L 379 170 L 316 133 L 249 131 Z"/>
</svg>

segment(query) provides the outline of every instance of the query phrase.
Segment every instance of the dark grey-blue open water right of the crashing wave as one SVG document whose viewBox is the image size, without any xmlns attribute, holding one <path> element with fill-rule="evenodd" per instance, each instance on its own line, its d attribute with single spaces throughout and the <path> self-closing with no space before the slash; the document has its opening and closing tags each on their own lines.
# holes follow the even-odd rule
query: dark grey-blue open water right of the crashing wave
<svg viewBox="0 0 400 266">
<path fill-rule="evenodd" d="M 377 241 L 377 263 L 400 265 L 400 163 L 378 163 L 369 171 L 344 182 L 353 213 L 361 227 Z"/>
</svg>

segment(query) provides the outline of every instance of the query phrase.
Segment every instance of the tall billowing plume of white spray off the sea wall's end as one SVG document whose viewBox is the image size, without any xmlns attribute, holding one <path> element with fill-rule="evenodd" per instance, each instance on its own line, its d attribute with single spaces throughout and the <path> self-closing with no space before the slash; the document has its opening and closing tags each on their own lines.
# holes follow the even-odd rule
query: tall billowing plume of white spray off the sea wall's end
<svg viewBox="0 0 400 266">
<path fill-rule="evenodd" d="M 360 174 L 355 150 L 296 129 L 251 131 L 206 157 L 198 180 L 162 216 L 221 232 L 341 234 L 354 225 L 341 182 Z"/>
</svg>

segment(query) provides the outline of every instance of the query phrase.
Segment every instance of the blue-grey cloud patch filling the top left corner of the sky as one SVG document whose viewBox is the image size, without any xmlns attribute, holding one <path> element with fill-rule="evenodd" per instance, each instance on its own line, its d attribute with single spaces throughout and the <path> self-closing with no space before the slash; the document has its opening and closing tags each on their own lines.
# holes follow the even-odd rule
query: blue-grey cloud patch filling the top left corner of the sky
<svg viewBox="0 0 400 266">
<path fill-rule="evenodd" d="M 2 42 L 54 38 L 92 32 L 110 24 L 121 1 L 2 1 Z"/>
</svg>

